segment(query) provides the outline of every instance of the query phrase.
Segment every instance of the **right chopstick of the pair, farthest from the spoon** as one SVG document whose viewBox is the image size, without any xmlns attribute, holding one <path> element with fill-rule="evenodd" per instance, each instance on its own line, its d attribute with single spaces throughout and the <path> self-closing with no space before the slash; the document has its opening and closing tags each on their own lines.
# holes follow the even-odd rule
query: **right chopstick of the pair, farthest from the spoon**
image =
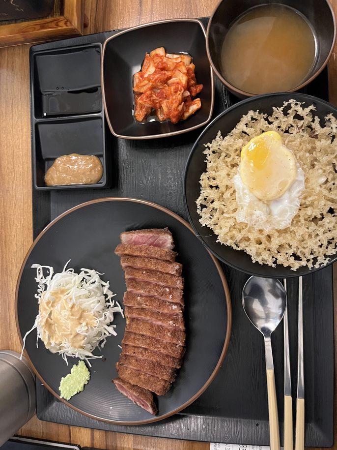
<svg viewBox="0 0 337 450">
<path fill-rule="evenodd" d="M 304 449 L 303 282 L 298 279 L 298 366 L 295 450 Z"/>
</svg>

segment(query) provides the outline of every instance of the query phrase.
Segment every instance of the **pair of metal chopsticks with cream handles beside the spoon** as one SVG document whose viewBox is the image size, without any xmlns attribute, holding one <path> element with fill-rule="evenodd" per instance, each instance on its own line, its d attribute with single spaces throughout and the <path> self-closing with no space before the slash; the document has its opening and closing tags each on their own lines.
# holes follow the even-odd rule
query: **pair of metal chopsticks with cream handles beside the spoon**
<svg viewBox="0 0 337 450">
<path fill-rule="evenodd" d="M 304 450 L 304 362 L 303 362 L 303 279 L 298 281 L 298 361 L 297 361 L 297 397 L 296 397 L 296 430 L 295 450 Z M 285 292 L 287 282 L 283 279 Z M 292 397 L 290 378 L 290 356 L 289 356 L 289 331 L 288 331 L 288 302 L 283 318 L 284 330 L 284 427 L 283 446 L 284 450 L 293 449 L 292 429 Z"/>
</svg>

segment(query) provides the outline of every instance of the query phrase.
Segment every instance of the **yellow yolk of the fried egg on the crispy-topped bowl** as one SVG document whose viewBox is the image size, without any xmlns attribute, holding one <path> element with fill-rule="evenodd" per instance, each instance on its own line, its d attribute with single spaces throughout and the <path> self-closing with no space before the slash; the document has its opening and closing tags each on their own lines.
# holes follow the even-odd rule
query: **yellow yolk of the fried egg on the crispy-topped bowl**
<svg viewBox="0 0 337 450">
<path fill-rule="evenodd" d="M 281 197 L 296 178 L 296 159 L 276 131 L 255 136 L 241 150 L 240 176 L 262 201 Z"/>
</svg>

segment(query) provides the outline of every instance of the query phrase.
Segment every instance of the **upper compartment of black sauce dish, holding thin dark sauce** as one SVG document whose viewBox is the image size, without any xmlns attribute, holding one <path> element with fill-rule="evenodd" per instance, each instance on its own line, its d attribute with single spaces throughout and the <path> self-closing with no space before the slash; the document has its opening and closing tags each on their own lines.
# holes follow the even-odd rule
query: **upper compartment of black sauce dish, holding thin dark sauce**
<svg viewBox="0 0 337 450">
<path fill-rule="evenodd" d="M 100 44 L 49 50 L 35 55 L 35 117 L 100 112 L 100 64 Z"/>
</svg>

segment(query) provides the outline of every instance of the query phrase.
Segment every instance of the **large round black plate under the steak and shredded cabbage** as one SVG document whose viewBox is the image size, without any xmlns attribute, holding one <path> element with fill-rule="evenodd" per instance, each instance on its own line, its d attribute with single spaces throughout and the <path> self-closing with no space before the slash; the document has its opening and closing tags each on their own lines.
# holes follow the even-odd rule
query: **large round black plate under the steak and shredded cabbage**
<svg viewBox="0 0 337 450">
<path fill-rule="evenodd" d="M 158 397 L 159 415 L 134 405 L 119 393 L 111 380 L 117 376 L 118 361 L 125 320 L 115 315 L 117 336 L 108 338 L 102 350 L 104 360 L 90 360 L 91 378 L 84 391 L 72 397 L 68 406 L 99 420 L 119 424 L 149 423 L 161 420 L 192 403 L 211 383 L 225 357 L 230 328 L 231 307 L 225 276 L 216 259 L 194 235 L 192 228 L 178 215 L 153 203 L 124 198 L 94 200 L 65 212 L 45 228 L 34 241 L 23 263 L 16 290 L 16 316 L 19 335 L 32 327 L 38 313 L 34 298 L 37 283 L 34 263 L 62 270 L 69 267 L 104 272 L 116 300 L 122 303 L 125 292 L 124 272 L 114 248 L 119 234 L 125 230 L 169 227 L 183 264 L 185 278 L 186 354 L 171 390 Z M 70 372 L 77 359 L 69 358 L 69 366 L 49 352 L 43 342 L 36 348 L 36 330 L 26 340 L 26 353 L 36 375 L 56 396 L 62 376 Z M 96 349 L 95 354 L 99 354 Z"/>
</svg>

